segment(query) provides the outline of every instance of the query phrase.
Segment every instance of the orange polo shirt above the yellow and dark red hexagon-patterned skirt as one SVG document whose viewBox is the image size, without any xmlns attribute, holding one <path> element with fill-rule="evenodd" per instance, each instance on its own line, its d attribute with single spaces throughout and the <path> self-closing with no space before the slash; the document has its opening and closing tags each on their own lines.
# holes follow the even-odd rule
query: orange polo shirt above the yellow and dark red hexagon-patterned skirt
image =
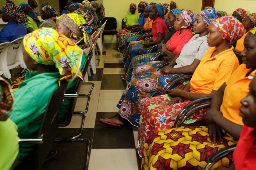
<svg viewBox="0 0 256 170">
<path fill-rule="evenodd" d="M 220 111 L 224 117 L 233 123 L 244 125 L 242 117 L 239 116 L 240 101 L 249 93 L 247 74 L 251 69 L 247 69 L 245 64 L 241 64 L 234 73 L 226 80 L 226 88 L 223 95 Z"/>
</svg>

